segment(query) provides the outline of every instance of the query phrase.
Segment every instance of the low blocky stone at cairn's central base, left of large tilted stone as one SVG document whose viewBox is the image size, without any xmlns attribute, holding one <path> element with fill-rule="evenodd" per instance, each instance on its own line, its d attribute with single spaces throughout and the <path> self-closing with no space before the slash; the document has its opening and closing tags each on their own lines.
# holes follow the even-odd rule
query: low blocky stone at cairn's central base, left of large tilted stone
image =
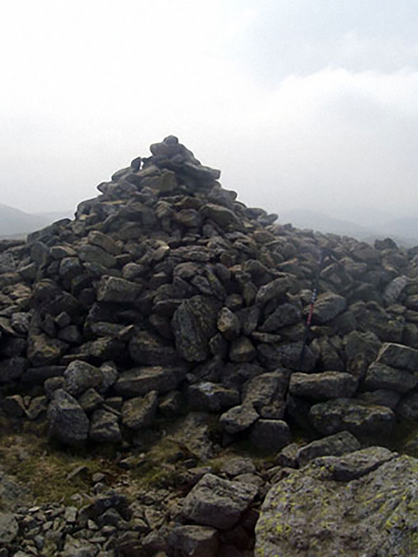
<svg viewBox="0 0 418 557">
<path fill-rule="evenodd" d="M 239 403 L 239 392 L 209 381 L 190 385 L 187 399 L 192 410 L 221 412 Z"/>
</svg>

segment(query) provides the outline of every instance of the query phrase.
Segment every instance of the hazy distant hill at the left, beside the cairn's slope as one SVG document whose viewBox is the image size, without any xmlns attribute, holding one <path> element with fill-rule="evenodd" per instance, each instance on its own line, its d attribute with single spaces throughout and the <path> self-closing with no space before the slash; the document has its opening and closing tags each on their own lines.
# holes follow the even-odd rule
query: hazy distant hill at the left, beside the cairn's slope
<svg viewBox="0 0 418 557">
<path fill-rule="evenodd" d="M 0 204 L 0 237 L 11 238 L 25 236 L 30 232 L 48 226 L 59 219 L 72 218 L 67 212 L 25 213 L 20 209 Z"/>
</svg>

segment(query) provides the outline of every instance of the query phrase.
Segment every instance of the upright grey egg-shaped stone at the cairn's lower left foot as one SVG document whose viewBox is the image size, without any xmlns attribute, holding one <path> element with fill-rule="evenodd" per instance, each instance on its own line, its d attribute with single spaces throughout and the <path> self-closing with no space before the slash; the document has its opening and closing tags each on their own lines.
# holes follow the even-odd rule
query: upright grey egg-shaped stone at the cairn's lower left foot
<svg viewBox="0 0 418 557">
<path fill-rule="evenodd" d="M 48 422 L 51 435 L 64 443 L 77 444 L 88 437 L 88 417 L 77 400 L 63 389 L 53 392 Z"/>
</svg>

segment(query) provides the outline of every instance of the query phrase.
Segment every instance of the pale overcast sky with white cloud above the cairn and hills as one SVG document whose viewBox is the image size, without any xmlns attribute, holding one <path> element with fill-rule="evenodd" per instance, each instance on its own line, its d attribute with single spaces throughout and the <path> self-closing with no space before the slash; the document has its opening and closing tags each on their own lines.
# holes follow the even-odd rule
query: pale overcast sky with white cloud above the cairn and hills
<svg viewBox="0 0 418 557">
<path fill-rule="evenodd" d="M 249 206 L 418 214 L 417 0 L 0 0 L 0 204 L 179 137 Z"/>
</svg>

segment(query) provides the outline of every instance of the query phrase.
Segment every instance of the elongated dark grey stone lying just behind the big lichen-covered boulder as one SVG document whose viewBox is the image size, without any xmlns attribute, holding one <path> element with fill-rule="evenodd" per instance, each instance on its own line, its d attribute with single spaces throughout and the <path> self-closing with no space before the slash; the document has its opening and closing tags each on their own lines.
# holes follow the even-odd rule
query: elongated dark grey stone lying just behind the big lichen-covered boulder
<svg viewBox="0 0 418 557">
<path fill-rule="evenodd" d="M 360 449 L 360 443 L 350 432 L 340 432 L 313 441 L 298 450 L 296 459 L 300 467 L 305 466 L 310 460 L 317 457 L 333 455 L 339 457 L 348 452 Z"/>
</svg>

